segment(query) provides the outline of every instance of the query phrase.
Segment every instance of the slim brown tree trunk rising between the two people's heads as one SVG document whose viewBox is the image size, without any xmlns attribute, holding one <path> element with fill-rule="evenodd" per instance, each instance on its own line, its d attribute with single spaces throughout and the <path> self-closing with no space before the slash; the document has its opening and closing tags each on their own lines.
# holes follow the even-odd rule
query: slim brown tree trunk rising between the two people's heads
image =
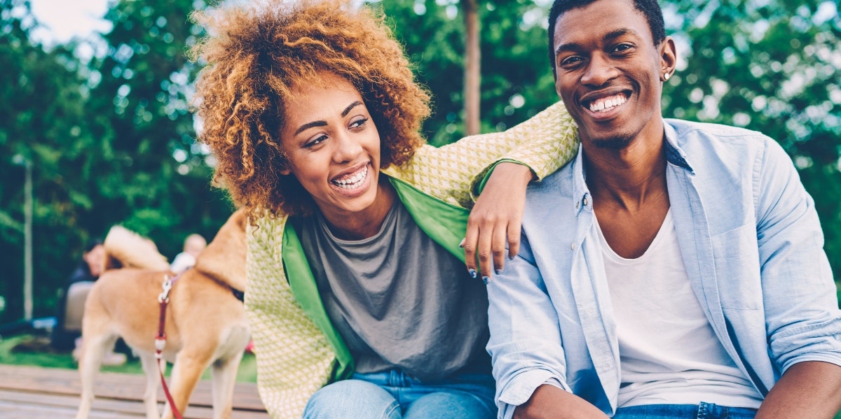
<svg viewBox="0 0 841 419">
<path fill-rule="evenodd" d="M 465 134 L 479 134 L 481 52 L 479 50 L 479 13 L 477 0 L 461 0 L 464 12 L 464 128 Z"/>
</svg>

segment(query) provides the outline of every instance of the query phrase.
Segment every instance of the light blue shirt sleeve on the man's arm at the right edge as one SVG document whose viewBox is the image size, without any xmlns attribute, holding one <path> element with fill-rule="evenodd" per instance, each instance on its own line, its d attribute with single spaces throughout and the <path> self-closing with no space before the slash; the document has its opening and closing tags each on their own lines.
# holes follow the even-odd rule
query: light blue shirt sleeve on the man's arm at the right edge
<svg viewBox="0 0 841 419">
<path fill-rule="evenodd" d="M 804 361 L 841 365 L 841 311 L 812 196 L 783 149 L 766 144 L 757 238 L 771 357 L 783 371 Z"/>
</svg>

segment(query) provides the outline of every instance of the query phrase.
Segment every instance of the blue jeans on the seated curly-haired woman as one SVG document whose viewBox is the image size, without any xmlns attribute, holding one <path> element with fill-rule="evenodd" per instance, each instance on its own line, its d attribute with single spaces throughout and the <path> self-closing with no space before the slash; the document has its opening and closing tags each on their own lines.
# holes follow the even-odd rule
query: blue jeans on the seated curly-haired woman
<svg viewBox="0 0 841 419">
<path fill-rule="evenodd" d="M 494 378 L 462 374 L 421 383 L 399 369 L 353 374 L 309 398 L 304 418 L 491 419 L 496 417 Z"/>
</svg>

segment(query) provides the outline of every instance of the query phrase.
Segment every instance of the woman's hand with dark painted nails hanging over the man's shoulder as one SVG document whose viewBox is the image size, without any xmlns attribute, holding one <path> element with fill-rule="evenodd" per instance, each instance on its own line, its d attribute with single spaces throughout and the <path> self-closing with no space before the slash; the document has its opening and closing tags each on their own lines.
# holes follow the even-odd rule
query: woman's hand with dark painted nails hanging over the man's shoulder
<svg viewBox="0 0 841 419">
<path fill-rule="evenodd" d="M 468 218 L 464 236 L 464 259 L 474 278 L 490 280 L 505 266 L 505 244 L 510 259 L 520 250 L 520 228 L 526 206 L 526 186 L 532 170 L 525 165 L 502 162 L 496 165 Z M 477 260 L 479 266 L 477 267 Z"/>
</svg>

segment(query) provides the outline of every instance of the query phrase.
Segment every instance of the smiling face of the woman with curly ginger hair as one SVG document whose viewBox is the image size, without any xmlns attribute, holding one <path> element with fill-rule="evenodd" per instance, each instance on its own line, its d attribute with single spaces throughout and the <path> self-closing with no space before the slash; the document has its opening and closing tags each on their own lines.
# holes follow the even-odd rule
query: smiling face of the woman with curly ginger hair
<svg viewBox="0 0 841 419">
<path fill-rule="evenodd" d="M 332 73 L 293 89 L 281 142 L 294 175 L 325 217 L 346 217 L 377 198 L 379 134 L 357 89 Z"/>
</svg>

